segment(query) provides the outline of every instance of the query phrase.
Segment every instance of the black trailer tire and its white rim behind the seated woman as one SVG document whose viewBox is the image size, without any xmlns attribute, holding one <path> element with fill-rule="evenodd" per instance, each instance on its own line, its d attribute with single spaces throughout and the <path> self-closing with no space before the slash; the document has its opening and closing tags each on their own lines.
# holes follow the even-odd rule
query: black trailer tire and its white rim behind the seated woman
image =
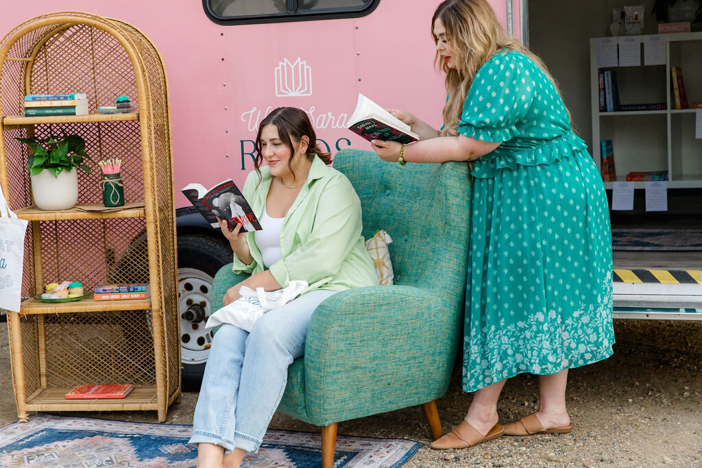
<svg viewBox="0 0 702 468">
<path fill-rule="evenodd" d="M 180 316 L 180 362 L 183 391 L 197 392 L 205 371 L 211 333 L 204 333 L 201 317 L 187 319 L 185 313 L 197 305 L 204 316 L 210 308 L 212 281 L 221 267 L 232 262 L 232 248 L 225 239 L 202 234 L 178 235 L 178 305 Z M 192 317 L 192 315 L 191 315 Z"/>
</svg>

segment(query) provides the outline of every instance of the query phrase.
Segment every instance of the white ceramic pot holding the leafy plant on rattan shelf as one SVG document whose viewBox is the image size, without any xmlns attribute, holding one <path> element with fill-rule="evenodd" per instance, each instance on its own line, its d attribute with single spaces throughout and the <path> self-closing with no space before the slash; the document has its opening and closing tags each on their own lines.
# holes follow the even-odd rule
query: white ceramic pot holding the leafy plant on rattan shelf
<svg viewBox="0 0 702 468">
<path fill-rule="evenodd" d="M 49 171 L 41 171 L 32 177 L 32 196 L 40 210 L 67 210 L 78 201 L 78 172 L 61 171 L 54 177 Z"/>
</svg>

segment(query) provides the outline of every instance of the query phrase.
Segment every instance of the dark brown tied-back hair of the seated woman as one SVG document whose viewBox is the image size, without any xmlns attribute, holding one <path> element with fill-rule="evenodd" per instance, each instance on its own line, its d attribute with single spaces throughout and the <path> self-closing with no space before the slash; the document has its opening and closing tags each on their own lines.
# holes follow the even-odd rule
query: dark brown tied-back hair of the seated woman
<svg viewBox="0 0 702 468">
<path fill-rule="evenodd" d="M 297 107 L 278 107 L 274 109 L 270 114 L 265 116 L 265 119 L 261 121 L 258 126 L 258 133 L 256 134 L 256 159 L 253 161 L 253 167 L 256 168 L 258 173 L 258 178 L 260 179 L 260 167 L 263 163 L 263 154 L 261 152 L 261 131 L 263 127 L 267 125 L 274 125 L 278 128 L 278 137 L 282 140 L 283 144 L 290 149 L 290 154 L 293 156 L 295 154 L 295 149 L 293 148 L 293 140 L 296 144 L 302 141 L 303 136 L 310 139 L 307 145 L 307 152 L 305 156 L 307 160 L 314 160 L 314 156 L 317 155 L 322 162 L 329 165 L 331 164 L 331 153 L 322 151 L 317 142 L 317 134 L 314 133 L 314 128 L 312 128 L 312 122 L 310 118 L 305 114 L 302 109 Z M 288 167 L 290 171 L 293 172 L 293 158 L 288 159 Z M 293 175 L 295 173 L 293 172 Z M 293 179 L 294 182 L 294 179 Z"/>
</svg>

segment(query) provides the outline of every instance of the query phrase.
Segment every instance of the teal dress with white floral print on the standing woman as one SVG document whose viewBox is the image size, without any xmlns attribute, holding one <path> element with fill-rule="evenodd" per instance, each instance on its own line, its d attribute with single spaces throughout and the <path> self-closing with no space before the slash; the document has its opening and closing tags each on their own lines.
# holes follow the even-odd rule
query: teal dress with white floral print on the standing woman
<svg viewBox="0 0 702 468">
<path fill-rule="evenodd" d="M 502 51 L 477 72 L 458 132 L 503 142 L 473 163 L 465 392 L 611 356 L 607 196 L 555 87 Z"/>
</svg>

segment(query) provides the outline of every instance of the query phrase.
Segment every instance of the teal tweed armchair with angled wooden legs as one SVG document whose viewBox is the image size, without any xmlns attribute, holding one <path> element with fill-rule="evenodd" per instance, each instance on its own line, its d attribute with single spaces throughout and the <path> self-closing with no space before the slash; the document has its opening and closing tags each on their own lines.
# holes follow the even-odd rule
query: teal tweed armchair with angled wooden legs
<svg viewBox="0 0 702 468">
<path fill-rule="evenodd" d="M 435 400 L 449 387 L 463 341 L 470 231 L 466 163 L 402 167 L 345 149 L 334 168 L 361 199 L 366 239 L 380 229 L 392 237 L 395 286 L 324 300 L 312 315 L 305 356 L 289 368 L 278 410 L 323 427 L 324 467 L 333 464 L 340 421 L 422 405 L 432 436 L 441 436 Z M 243 279 L 225 265 L 212 303 Z"/>
</svg>

